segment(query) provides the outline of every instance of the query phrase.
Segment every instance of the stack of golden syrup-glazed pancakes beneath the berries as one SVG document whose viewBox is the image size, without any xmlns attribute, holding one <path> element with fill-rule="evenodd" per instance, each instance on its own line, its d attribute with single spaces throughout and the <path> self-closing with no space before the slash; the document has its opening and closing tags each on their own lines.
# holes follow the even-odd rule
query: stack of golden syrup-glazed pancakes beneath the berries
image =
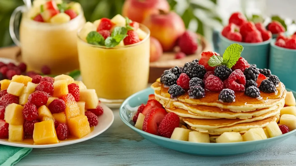
<svg viewBox="0 0 296 166">
<path fill-rule="evenodd" d="M 159 79 L 151 87 L 155 99 L 167 112 L 176 113 L 188 129 L 210 134 L 212 141 L 224 132 L 243 134 L 251 128 L 264 129 L 270 122 L 278 122 L 287 92 L 280 82 L 275 94 L 260 91 L 261 98 L 254 99 L 244 92 L 235 92 L 234 102 L 223 103 L 218 100 L 219 92 L 206 91 L 201 99 L 192 99 L 188 93 L 172 99 L 168 87 Z"/>
</svg>

